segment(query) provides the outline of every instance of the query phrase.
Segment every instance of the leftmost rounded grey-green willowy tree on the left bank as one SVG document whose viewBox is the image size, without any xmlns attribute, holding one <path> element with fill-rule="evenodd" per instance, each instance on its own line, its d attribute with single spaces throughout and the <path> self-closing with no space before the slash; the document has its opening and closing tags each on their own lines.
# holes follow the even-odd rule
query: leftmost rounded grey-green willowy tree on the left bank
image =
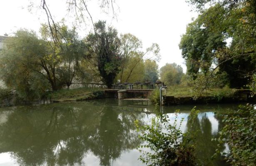
<svg viewBox="0 0 256 166">
<path fill-rule="evenodd" d="M 5 47 L 0 52 L 0 76 L 7 88 L 15 89 L 25 99 L 42 95 L 50 88 L 42 71 L 46 47 L 45 41 L 38 39 L 35 32 L 27 30 L 19 30 L 14 37 L 5 40 Z"/>
</svg>

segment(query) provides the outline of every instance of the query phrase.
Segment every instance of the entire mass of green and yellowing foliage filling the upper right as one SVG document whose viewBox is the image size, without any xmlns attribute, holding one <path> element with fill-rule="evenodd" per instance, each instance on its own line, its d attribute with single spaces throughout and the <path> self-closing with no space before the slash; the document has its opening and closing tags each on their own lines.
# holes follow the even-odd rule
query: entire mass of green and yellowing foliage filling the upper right
<svg viewBox="0 0 256 166">
<path fill-rule="evenodd" d="M 255 1 L 188 2 L 200 11 L 180 43 L 188 73 L 195 79 L 197 75 L 193 74 L 199 71 L 208 72 L 206 77 L 211 77 L 211 73 L 219 70 L 226 73 L 231 88 L 250 86 L 256 68 Z M 226 44 L 227 40 L 231 40 L 230 44 Z"/>
</svg>

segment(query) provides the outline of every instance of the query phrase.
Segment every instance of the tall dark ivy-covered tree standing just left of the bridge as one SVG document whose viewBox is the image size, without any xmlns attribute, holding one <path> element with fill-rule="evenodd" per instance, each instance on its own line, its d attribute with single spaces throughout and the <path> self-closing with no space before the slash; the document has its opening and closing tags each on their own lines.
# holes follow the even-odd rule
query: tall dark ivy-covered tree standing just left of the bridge
<svg viewBox="0 0 256 166">
<path fill-rule="evenodd" d="M 113 27 L 106 28 L 106 22 L 99 21 L 95 23 L 95 33 L 87 36 L 89 51 L 96 56 L 97 67 L 102 76 L 102 81 L 108 88 L 112 87 L 114 79 L 119 72 L 121 41 L 117 30 Z"/>
</svg>

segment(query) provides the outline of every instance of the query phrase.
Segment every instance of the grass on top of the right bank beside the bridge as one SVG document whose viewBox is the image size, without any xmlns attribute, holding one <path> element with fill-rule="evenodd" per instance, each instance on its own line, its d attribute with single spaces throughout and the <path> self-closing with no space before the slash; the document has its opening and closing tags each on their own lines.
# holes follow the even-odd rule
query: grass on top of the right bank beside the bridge
<svg viewBox="0 0 256 166">
<path fill-rule="evenodd" d="M 202 96 L 231 96 L 234 95 L 236 89 L 231 88 L 213 88 L 207 90 L 202 94 Z M 191 92 L 190 87 L 182 87 L 182 86 L 169 86 L 167 89 L 167 96 L 174 96 L 174 97 L 194 97 L 194 93 Z"/>
</svg>

